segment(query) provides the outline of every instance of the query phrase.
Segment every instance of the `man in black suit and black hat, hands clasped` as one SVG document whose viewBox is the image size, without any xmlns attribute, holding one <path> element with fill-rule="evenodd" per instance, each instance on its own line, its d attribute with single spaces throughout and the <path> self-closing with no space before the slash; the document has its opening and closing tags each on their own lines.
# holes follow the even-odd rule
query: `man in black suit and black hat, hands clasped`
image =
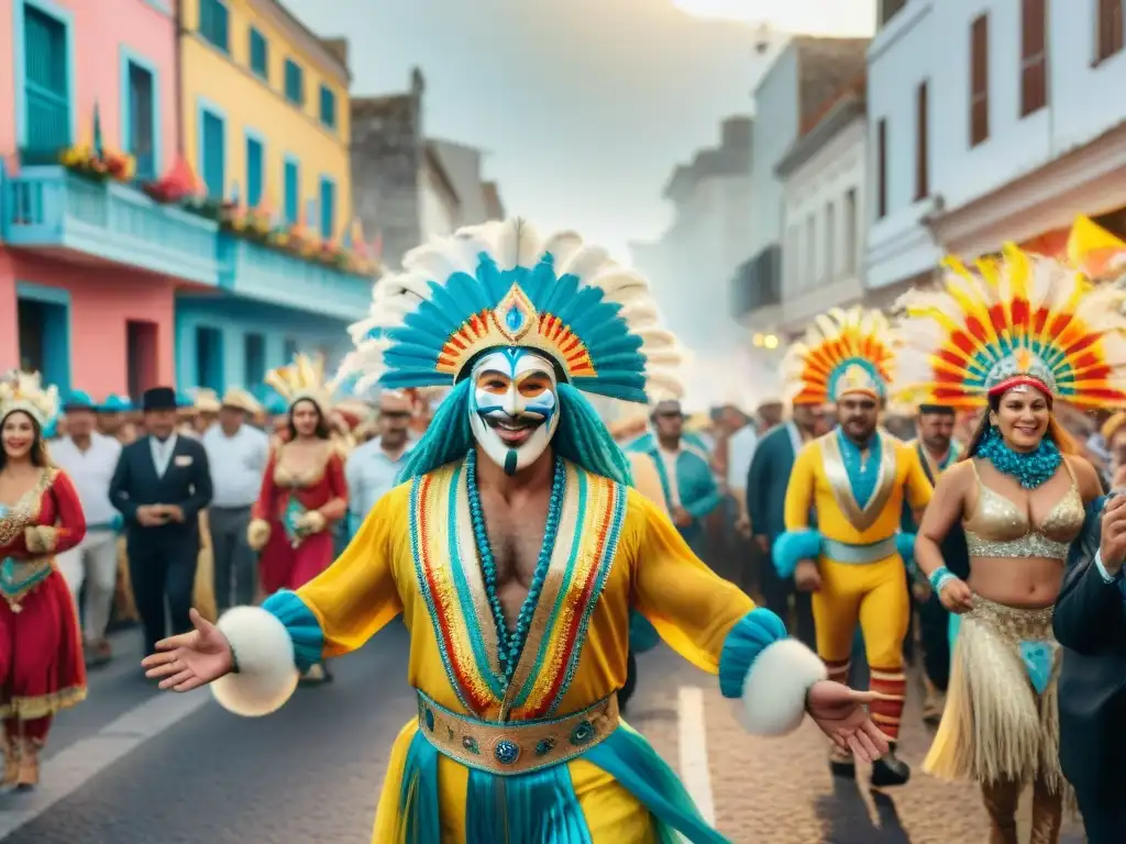
<svg viewBox="0 0 1126 844">
<path fill-rule="evenodd" d="M 133 596 L 152 654 L 169 635 L 166 594 L 171 632 L 191 629 L 199 511 L 211 502 L 212 483 L 203 445 L 176 433 L 176 390 L 145 390 L 142 411 L 149 434 L 122 450 L 109 500 L 125 517 Z"/>
</svg>

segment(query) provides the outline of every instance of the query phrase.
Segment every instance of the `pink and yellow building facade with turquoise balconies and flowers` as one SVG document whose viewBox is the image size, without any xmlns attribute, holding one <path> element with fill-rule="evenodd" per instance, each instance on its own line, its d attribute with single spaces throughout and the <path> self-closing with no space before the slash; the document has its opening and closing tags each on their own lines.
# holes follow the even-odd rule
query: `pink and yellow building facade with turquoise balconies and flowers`
<svg viewBox="0 0 1126 844">
<path fill-rule="evenodd" d="M 0 369 L 138 395 L 342 352 L 346 50 L 275 0 L 0 0 Z"/>
</svg>

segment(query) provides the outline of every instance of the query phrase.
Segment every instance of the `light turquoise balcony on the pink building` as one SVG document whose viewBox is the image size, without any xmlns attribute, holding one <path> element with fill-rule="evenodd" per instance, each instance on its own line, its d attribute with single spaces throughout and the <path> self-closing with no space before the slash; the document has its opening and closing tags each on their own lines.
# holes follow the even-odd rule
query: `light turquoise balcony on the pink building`
<svg viewBox="0 0 1126 844">
<path fill-rule="evenodd" d="M 8 246 L 217 285 L 216 232 L 212 221 L 63 167 L 0 174 L 0 240 Z"/>
</svg>

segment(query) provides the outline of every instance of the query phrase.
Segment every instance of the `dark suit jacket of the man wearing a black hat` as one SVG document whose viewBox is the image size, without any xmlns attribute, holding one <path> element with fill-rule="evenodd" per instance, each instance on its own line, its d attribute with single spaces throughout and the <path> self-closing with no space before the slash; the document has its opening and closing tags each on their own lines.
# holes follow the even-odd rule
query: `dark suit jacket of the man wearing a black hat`
<svg viewBox="0 0 1126 844">
<path fill-rule="evenodd" d="M 177 437 L 172 457 L 162 476 L 157 475 L 149 437 L 122 449 L 117 469 L 109 482 L 109 501 L 125 518 L 129 536 L 153 540 L 198 537 L 199 511 L 211 503 L 211 468 L 203 443 Z M 176 504 L 184 510 L 184 522 L 168 522 L 144 528 L 137 521 L 137 508 L 144 504 Z"/>
</svg>

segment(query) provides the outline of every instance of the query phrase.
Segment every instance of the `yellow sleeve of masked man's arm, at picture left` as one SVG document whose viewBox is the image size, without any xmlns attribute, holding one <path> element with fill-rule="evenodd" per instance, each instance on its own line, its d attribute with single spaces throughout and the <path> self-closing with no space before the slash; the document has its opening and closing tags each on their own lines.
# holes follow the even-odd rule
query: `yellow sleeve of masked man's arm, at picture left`
<svg viewBox="0 0 1126 844">
<path fill-rule="evenodd" d="M 403 485 L 379 499 L 340 558 L 297 590 L 320 625 L 324 656 L 357 649 L 403 611 L 392 539 L 406 535 L 409 492 Z"/>
</svg>

